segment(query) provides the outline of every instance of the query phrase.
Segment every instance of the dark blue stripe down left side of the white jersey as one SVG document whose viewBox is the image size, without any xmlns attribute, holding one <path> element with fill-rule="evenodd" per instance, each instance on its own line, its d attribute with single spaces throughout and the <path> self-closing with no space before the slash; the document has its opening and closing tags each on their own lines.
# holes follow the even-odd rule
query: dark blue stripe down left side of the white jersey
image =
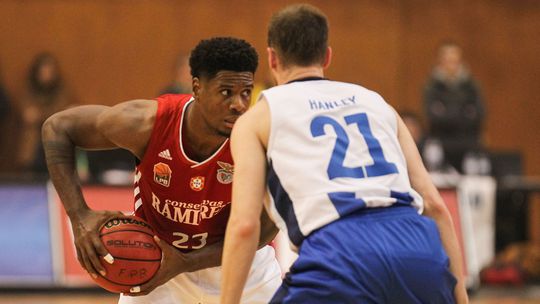
<svg viewBox="0 0 540 304">
<path fill-rule="evenodd" d="M 305 236 L 300 231 L 300 226 L 298 225 L 298 220 L 296 219 L 296 213 L 294 212 L 294 206 L 291 198 L 281 185 L 279 177 L 277 176 L 276 171 L 274 171 L 271 161 L 268 163 L 266 182 L 268 183 L 270 194 L 274 198 L 276 209 L 287 224 L 289 239 L 296 247 L 300 247 L 300 244 L 302 244 Z"/>
</svg>

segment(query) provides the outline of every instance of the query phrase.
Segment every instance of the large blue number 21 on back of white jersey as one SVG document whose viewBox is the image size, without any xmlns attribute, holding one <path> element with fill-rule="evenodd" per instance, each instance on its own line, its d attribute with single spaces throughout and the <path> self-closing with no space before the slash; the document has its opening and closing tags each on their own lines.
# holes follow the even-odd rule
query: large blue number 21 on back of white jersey
<svg viewBox="0 0 540 304">
<path fill-rule="evenodd" d="M 330 179 L 338 177 L 366 178 L 398 173 L 396 165 L 388 162 L 384 157 L 379 140 L 377 140 L 371 132 L 367 114 L 352 114 L 345 116 L 344 119 L 347 125 L 355 124 L 358 127 L 358 131 L 360 131 L 360 134 L 367 144 L 369 155 L 373 159 L 373 164 L 358 167 L 345 166 L 343 163 L 345 161 L 347 149 L 349 148 L 349 135 L 337 120 L 329 116 L 320 115 L 311 121 L 311 135 L 313 137 L 326 135 L 324 131 L 326 125 L 330 125 L 337 135 L 334 150 L 330 157 L 330 163 L 328 164 L 328 177 Z"/>
</svg>

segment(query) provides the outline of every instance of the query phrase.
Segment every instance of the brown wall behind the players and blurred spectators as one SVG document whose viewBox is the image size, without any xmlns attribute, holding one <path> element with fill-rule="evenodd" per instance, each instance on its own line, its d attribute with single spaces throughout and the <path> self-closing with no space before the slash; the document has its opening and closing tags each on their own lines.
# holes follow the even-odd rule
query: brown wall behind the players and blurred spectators
<svg viewBox="0 0 540 304">
<path fill-rule="evenodd" d="M 263 80 L 266 23 L 291 2 L 1 0 L 0 79 L 16 101 L 32 57 L 50 50 L 81 103 L 151 98 L 171 78 L 176 54 L 232 35 L 257 48 Z M 398 110 L 421 113 L 435 47 L 448 38 L 462 44 L 487 102 L 488 147 L 522 150 L 527 172 L 540 175 L 540 2 L 307 2 L 330 19 L 328 76 L 377 90 Z M 9 156 L 16 133 L 2 135 Z M 9 168 L 9 157 L 3 163 Z"/>
</svg>

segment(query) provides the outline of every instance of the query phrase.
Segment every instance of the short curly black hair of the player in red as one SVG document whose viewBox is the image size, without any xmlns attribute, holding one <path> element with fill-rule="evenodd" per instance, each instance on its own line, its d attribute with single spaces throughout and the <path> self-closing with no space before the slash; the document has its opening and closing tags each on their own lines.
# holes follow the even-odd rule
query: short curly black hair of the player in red
<svg viewBox="0 0 540 304">
<path fill-rule="evenodd" d="M 191 51 L 191 76 L 212 79 L 219 71 L 252 72 L 257 70 L 259 56 L 251 44 L 233 37 L 201 40 Z"/>
</svg>

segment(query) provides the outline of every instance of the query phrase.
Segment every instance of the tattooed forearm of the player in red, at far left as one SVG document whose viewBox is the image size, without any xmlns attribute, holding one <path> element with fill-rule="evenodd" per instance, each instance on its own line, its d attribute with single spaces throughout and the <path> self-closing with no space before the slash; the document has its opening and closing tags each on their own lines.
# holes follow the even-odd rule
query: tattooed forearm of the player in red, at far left
<svg viewBox="0 0 540 304">
<path fill-rule="evenodd" d="M 54 116 L 43 124 L 42 142 L 51 180 L 68 216 L 74 221 L 88 206 L 75 169 L 75 145 L 58 124 Z"/>
</svg>

